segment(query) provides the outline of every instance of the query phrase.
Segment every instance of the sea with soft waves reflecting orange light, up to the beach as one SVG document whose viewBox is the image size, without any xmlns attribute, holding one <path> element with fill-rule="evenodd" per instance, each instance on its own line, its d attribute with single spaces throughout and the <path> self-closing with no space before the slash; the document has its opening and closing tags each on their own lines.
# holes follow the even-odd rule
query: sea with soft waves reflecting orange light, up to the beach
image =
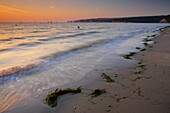
<svg viewBox="0 0 170 113">
<path fill-rule="evenodd" d="M 80 29 L 77 28 L 80 26 Z M 109 54 L 142 45 L 165 24 L 0 23 L 0 112 L 81 79 Z"/>
</svg>

